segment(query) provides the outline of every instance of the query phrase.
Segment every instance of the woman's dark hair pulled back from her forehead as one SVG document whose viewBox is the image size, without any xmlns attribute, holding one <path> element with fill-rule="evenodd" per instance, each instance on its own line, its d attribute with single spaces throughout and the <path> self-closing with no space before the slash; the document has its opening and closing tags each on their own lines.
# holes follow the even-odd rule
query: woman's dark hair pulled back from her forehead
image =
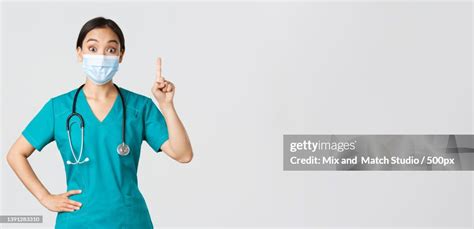
<svg viewBox="0 0 474 229">
<path fill-rule="evenodd" d="M 82 26 L 81 31 L 79 32 L 79 36 L 77 37 L 77 43 L 76 43 L 76 48 L 81 47 L 82 49 L 82 42 L 84 41 L 84 38 L 86 38 L 86 35 L 88 32 L 95 28 L 106 28 L 109 27 L 114 31 L 115 34 L 117 34 L 119 41 L 120 41 L 120 49 L 121 51 L 125 50 L 125 38 L 123 37 L 122 30 L 120 27 L 112 21 L 111 19 L 107 19 L 104 17 L 96 17 L 84 24 Z"/>
</svg>

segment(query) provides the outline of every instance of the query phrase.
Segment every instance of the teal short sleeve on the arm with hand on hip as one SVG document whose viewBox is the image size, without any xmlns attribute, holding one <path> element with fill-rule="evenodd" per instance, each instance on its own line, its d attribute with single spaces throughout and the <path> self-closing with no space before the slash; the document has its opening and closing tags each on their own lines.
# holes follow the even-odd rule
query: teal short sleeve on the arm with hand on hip
<svg viewBox="0 0 474 229">
<path fill-rule="evenodd" d="M 38 151 L 41 151 L 43 147 L 54 140 L 54 108 L 52 99 L 49 99 L 34 116 L 22 131 L 22 134 Z"/>
</svg>

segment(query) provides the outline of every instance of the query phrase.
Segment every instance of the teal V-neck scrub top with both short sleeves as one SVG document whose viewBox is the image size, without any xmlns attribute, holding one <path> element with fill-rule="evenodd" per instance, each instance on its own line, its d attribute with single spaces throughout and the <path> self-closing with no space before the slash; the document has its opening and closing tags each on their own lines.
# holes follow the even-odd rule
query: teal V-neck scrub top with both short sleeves
<svg viewBox="0 0 474 229">
<path fill-rule="evenodd" d="M 168 129 L 162 113 L 148 97 L 119 87 L 126 106 L 125 142 L 127 156 L 117 153 L 122 142 L 122 102 L 117 98 L 107 116 L 100 121 L 92 112 L 83 90 L 77 97 L 76 112 L 84 119 L 84 145 L 81 161 L 74 162 L 70 150 L 66 119 L 72 112 L 77 89 L 53 97 L 41 108 L 22 131 L 23 136 L 41 151 L 53 140 L 61 153 L 66 170 L 67 190 L 81 189 L 69 196 L 82 203 L 74 212 L 58 212 L 55 228 L 153 228 L 137 180 L 138 161 L 143 140 L 156 152 L 168 140 Z M 76 157 L 81 147 L 79 118 L 70 120 L 71 141 Z"/>
</svg>

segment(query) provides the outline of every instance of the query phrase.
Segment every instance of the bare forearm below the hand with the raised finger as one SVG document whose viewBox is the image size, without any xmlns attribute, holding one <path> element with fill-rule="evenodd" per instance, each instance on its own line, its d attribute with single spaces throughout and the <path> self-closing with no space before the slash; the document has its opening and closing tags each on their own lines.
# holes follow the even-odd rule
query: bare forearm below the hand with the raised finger
<svg viewBox="0 0 474 229">
<path fill-rule="evenodd" d="M 192 157 L 191 143 L 173 103 L 160 106 L 168 127 L 171 147 L 178 157 Z"/>
</svg>

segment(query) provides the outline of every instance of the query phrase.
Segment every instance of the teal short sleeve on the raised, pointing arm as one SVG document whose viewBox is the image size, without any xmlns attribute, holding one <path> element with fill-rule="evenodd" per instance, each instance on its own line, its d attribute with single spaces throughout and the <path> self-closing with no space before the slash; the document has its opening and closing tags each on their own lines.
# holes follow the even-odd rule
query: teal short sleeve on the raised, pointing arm
<svg viewBox="0 0 474 229">
<path fill-rule="evenodd" d="M 168 126 L 165 117 L 150 98 L 145 103 L 144 125 L 144 140 L 155 152 L 161 152 L 161 146 L 169 139 Z"/>
</svg>

